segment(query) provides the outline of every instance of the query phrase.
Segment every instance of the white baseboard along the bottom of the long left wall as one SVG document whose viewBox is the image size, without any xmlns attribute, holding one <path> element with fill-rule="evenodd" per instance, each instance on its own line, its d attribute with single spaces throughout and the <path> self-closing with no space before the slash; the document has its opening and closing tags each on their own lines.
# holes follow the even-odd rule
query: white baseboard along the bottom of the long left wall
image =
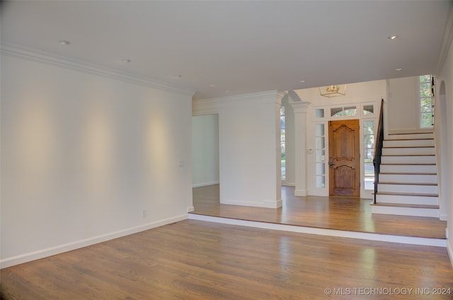
<svg viewBox="0 0 453 300">
<path fill-rule="evenodd" d="M 121 238 L 122 236 L 129 236 L 130 234 L 133 234 L 133 233 L 153 229 L 153 228 L 156 228 L 159 226 L 164 226 L 166 224 L 171 224 L 171 223 L 174 223 L 177 221 L 183 221 L 185 219 L 188 219 L 188 214 L 183 214 L 183 215 L 168 218 L 168 219 L 154 221 L 154 222 L 151 222 L 148 224 L 135 226 L 135 227 L 132 227 L 129 229 L 123 229 L 120 231 L 105 233 L 105 234 L 102 234 L 101 236 L 93 236 L 92 238 L 86 238 L 81 241 L 75 241 L 72 243 L 67 243 L 64 245 L 50 247 L 50 248 L 38 250 L 35 252 L 31 252 L 31 253 L 25 253 L 25 254 L 13 256 L 11 258 L 5 258 L 3 260 L 0 260 L 0 269 L 2 269 L 4 267 L 11 267 L 13 265 L 19 265 L 24 262 L 30 262 L 32 260 L 39 260 L 40 258 L 47 258 L 48 256 L 51 256 L 51 255 L 57 255 L 57 254 L 64 253 L 67 251 L 76 250 L 76 249 L 83 248 L 86 246 L 91 246 L 96 243 L 102 243 L 105 241 L 112 240 L 114 238 Z"/>
</svg>

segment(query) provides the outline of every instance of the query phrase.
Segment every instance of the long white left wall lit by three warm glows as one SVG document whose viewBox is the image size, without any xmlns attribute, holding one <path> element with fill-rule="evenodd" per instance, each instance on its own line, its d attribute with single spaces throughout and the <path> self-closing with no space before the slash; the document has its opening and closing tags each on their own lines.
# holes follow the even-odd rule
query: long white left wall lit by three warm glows
<svg viewBox="0 0 453 300">
<path fill-rule="evenodd" d="M 2 267 L 187 218 L 191 94 L 1 64 Z"/>
</svg>

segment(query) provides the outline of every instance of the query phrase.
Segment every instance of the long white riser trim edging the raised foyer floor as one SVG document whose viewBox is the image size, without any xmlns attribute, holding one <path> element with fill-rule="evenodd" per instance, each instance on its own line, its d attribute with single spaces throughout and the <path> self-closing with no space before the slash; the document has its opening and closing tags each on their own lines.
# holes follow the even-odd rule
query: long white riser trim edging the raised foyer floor
<svg viewBox="0 0 453 300">
<path fill-rule="evenodd" d="M 419 246 L 446 247 L 447 240 L 442 238 L 418 238 L 412 236 L 393 236 L 389 234 L 353 232 L 335 229 L 322 229 L 315 227 L 294 226 L 285 224 L 265 223 L 259 221 L 246 221 L 239 219 L 227 219 L 222 217 L 211 217 L 202 214 L 189 214 L 189 219 L 199 221 L 209 221 L 222 224 L 255 227 L 260 229 L 271 229 L 280 231 L 290 231 L 296 233 L 316 234 L 319 236 L 336 236 L 338 238 L 357 238 L 369 241 L 383 241 L 389 243 L 404 243 Z M 453 255 L 453 253 L 452 253 Z M 453 257 L 453 256 L 452 256 Z"/>
</svg>

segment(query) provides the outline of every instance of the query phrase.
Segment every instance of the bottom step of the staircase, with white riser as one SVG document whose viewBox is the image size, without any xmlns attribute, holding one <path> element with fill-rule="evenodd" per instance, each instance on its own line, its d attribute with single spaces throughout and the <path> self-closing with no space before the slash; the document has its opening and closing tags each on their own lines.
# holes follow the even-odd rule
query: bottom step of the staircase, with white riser
<svg viewBox="0 0 453 300">
<path fill-rule="evenodd" d="M 395 214 L 399 216 L 439 217 L 439 207 L 435 205 L 400 205 L 377 203 L 371 205 L 372 214 Z"/>
</svg>

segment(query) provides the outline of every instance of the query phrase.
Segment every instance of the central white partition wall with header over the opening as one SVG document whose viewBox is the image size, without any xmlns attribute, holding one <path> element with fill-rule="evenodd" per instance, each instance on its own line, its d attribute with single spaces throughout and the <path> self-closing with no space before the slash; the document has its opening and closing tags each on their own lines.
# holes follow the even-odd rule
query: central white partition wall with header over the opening
<svg viewBox="0 0 453 300">
<path fill-rule="evenodd" d="M 193 114 L 219 114 L 220 202 L 281 206 L 280 101 L 277 91 L 193 103 Z"/>
</svg>

